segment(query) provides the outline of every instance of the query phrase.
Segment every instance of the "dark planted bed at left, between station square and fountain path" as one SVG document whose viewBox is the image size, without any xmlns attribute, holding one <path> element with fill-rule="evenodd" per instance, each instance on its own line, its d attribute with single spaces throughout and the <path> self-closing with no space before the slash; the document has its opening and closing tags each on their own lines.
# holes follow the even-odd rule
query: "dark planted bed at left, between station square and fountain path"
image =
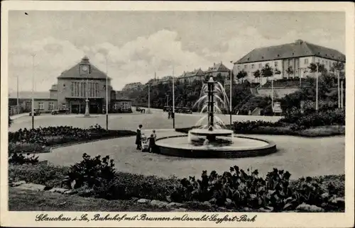
<svg viewBox="0 0 355 228">
<path fill-rule="evenodd" d="M 89 142 L 94 139 L 108 139 L 136 135 L 130 130 L 105 130 L 99 125 L 81 129 L 71 126 L 39 127 L 17 132 L 9 132 L 9 153 L 49 152 L 50 147 L 76 142 Z"/>
</svg>

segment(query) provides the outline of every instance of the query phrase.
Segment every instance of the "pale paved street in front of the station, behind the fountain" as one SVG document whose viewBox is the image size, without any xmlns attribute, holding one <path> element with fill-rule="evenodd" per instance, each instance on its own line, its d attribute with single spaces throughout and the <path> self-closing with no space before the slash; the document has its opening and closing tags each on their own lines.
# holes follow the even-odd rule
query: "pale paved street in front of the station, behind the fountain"
<svg viewBox="0 0 355 228">
<path fill-rule="evenodd" d="M 136 130 L 137 126 L 142 124 L 145 129 L 172 129 L 173 120 L 168 120 L 168 113 L 162 110 L 152 109 L 152 114 L 124 113 L 109 114 L 109 129 Z M 205 114 L 204 114 L 205 115 Z M 193 114 L 175 114 L 175 127 L 191 127 L 195 125 L 204 115 Z M 218 115 L 226 125 L 229 124 L 229 115 Z M 278 116 L 252 116 L 252 115 L 233 115 L 232 121 L 246 120 L 266 120 L 277 121 Z M 99 124 L 106 127 L 106 115 L 92 115 L 90 118 L 84 118 L 83 115 L 50 115 L 42 114 L 35 116 L 35 127 L 62 126 L 70 125 L 73 127 L 87 128 L 90 125 Z M 13 120 L 10 131 L 16 131 L 20 128 L 31 128 L 31 116 L 25 115 Z"/>
</svg>

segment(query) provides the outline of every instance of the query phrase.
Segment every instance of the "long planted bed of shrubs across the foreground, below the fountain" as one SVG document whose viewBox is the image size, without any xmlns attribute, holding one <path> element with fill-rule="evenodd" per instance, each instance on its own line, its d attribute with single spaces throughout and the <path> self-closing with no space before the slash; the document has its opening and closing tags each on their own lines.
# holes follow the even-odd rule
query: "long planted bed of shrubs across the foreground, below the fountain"
<svg viewBox="0 0 355 228">
<path fill-rule="evenodd" d="M 230 167 L 219 175 L 202 172 L 200 179 L 178 179 L 122 173 L 109 156 L 91 158 L 70 167 L 47 164 L 9 165 L 9 181 L 72 188 L 72 194 L 108 200 L 146 198 L 208 207 L 263 212 L 344 211 L 344 175 L 290 179 L 288 171 L 273 169 L 265 178 L 257 170 Z M 214 208 L 214 209 L 213 209 Z M 248 209 L 248 210 L 249 210 Z"/>
</svg>

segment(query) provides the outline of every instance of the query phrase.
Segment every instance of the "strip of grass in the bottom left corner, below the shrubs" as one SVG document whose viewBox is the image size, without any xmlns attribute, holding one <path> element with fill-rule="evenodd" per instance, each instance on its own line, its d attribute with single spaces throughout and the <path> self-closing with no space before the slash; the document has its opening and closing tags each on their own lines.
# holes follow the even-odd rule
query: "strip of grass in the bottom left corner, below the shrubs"
<svg viewBox="0 0 355 228">
<path fill-rule="evenodd" d="M 116 211 L 116 212 L 163 212 L 168 209 L 135 203 L 133 200 L 104 200 L 77 195 L 38 192 L 9 188 L 11 211 Z"/>
</svg>

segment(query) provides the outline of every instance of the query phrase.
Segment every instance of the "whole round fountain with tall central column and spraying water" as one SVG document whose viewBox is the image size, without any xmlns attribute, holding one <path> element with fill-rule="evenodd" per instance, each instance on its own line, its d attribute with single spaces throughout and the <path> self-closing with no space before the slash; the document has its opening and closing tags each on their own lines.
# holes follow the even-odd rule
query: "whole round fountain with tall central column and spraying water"
<svg viewBox="0 0 355 228">
<path fill-rule="evenodd" d="M 211 76 L 202 86 L 200 98 L 195 106 L 204 104 L 201 113 L 207 115 L 197 121 L 188 135 L 163 137 L 155 144 L 160 154 L 199 158 L 231 158 L 261 156 L 276 151 L 276 144 L 264 139 L 235 137 L 232 130 L 226 129 L 222 120 L 215 114 L 222 113 L 219 105 L 229 103 L 226 92 L 218 81 Z M 218 105 L 219 104 L 219 105 Z M 202 122 L 207 118 L 207 125 Z"/>
</svg>

